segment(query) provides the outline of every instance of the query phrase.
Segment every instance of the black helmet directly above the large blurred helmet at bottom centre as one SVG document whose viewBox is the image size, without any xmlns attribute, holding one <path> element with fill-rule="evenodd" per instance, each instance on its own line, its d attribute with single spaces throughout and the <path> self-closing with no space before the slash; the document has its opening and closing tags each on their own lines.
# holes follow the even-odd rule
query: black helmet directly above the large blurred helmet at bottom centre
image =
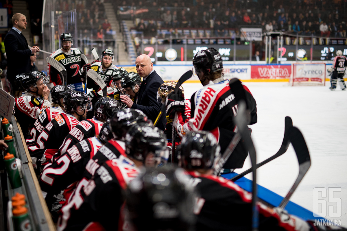
<svg viewBox="0 0 347 231">
<path fill-rule="evenodd" d="M 149 152 L 153 152 L 154 158 L 159 159 L 159 161 L 162 158 L 168 158 L 167 139 L 164 132 L 152 125 L 143 123 L 129 128 L 125 135 L 125 153 L 127 156 L 144 162 Z M 166 154 L 167 156 L 165 156 Z"/>
</svg>

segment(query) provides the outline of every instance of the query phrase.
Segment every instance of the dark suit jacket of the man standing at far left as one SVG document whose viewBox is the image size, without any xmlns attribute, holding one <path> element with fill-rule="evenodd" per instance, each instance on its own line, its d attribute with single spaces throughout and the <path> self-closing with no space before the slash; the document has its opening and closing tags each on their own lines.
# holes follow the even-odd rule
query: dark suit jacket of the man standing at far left
<svg viewBox="0 0 347 231">
<path fill-rule="evenodd" d="M 17 87 L 14 84 L 16 75 L 31 70 L 31 50 L 28 48 L 24 35 L 18 34 L 14 29 L 7 32 L 4 43 L 7 55 L 7 78 L 16 91 Z"/>
</svg>

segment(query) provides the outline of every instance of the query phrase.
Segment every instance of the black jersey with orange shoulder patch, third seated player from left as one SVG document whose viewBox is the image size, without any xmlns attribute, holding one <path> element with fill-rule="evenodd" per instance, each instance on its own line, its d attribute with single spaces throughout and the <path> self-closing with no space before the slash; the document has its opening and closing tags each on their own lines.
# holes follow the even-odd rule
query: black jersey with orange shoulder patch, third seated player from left
<svg viewBox="0 0 347 231">
<path fill-rule="evenodd" d="M 28 147 L 34 170 L 38 176 L 77 123 L 79 121 L 72 114 L 61 113 L 46 125 L 37 137 L 37 142 Z"/>
</svg>

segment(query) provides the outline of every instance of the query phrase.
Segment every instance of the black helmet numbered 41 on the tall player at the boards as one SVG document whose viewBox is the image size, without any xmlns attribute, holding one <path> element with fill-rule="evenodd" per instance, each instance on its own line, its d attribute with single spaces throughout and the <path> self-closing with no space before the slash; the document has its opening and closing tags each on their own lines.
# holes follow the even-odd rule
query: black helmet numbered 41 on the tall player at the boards
<svg viewBox="0 0 347 231">
<path fill-rule="evenodd" d="M 204 71 L 210 69 L 212 74 L 215 71 L 223 70 L 223 61 L 220 53 L 215 48 L 208 48 L 195 54 L 193 66 L 196 72 L 199 69 Z"/>
</svg>

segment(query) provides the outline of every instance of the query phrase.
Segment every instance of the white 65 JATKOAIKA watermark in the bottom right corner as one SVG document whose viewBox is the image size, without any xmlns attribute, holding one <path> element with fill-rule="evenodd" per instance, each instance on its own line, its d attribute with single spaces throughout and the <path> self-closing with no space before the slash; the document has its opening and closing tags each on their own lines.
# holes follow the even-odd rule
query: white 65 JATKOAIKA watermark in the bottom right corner
<svg viewBox="0 0 347 231">
<path fill-rule="evenodd" d="M 315 217 L 341 217 L 342 200 L 334 196 L 334 192 L 341 192 L 341 188 L 313 188 L 313 216 Z M 329 204 L 328 204 L 329 203 Z M 316 220 L 316 223 L 325 225 L 341 225 L 340 219 Z"/>
</svg>

